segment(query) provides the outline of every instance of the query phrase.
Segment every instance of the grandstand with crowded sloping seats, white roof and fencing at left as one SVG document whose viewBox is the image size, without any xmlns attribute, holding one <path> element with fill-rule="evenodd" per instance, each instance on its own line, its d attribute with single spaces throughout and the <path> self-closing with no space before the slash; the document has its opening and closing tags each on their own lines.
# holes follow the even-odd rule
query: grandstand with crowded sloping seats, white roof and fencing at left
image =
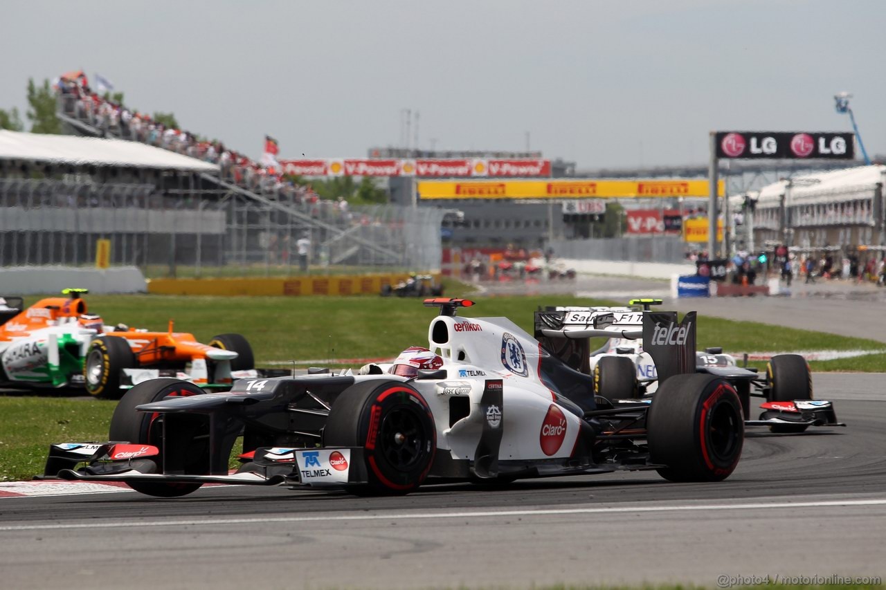
<svg viewBox="0 0 886 590">
<path fill-rule="evenodd" d="M 338 207 L 76 81 L 58 117 L 73 136 L 0 133 L 2 266 L 89 264 L 106 238 L 148 276 L 291 273 L 307 237 L 313 272 L 439 268 L 444 212 Z"/>
</svg>

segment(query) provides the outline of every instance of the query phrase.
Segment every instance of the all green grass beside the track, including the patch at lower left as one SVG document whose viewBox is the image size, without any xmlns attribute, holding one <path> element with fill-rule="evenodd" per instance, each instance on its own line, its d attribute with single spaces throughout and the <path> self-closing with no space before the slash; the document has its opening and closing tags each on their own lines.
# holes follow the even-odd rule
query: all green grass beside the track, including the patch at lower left
<svg viewBox="0 0 886 590">
<path fill-rule="evenodd" d="M 449 293 L 465 291 L 457 283 Z M 34 302 L 36 298 L 28 298 Z M 473 297 L 468 317 L 505 316 L 532 333 L 532 312 L 540 306 L 606 305 L 565 296 Z M 258 364 L 311 359 L 392 358 L 408 345 L 427 343 L 428 322 L 436 309 L 417 298 L 365 297 L 178 297 L 89 295 L 89 310 L 105 322 L 192 332 L 206 342 L 237 332 L 253 345 Z M 611 304 L 612 302 L 609 302 Z M 621 302 L 618 302 L 621 303 Z M 729 352 L 791 350 L 880 350 L 882 344 L 821 332 L 773 328 L 753 322 L 702 317 L 698 345 Z M 764 367 L 765 363 L 755 363 Z M 886 354 L 812 362 L 813 370 L 882 371 Z M 0 479 L 26 479 L 43 470 L 50 443 L 104 440 L 114 402 L 68 400 L 44 394 L 0 394 Z"/>
</svg>

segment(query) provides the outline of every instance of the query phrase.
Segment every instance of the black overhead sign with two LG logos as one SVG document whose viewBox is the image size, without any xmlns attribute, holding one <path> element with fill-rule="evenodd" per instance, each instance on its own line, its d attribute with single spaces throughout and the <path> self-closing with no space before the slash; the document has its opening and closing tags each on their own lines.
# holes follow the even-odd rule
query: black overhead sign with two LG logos
<svg viewBox="0 0 886 590">
<path fill-rule="evenodd" d="M 718 131 L 717 157 L 726 159 L 854 159 L 851 133 Z"/>
</svg>

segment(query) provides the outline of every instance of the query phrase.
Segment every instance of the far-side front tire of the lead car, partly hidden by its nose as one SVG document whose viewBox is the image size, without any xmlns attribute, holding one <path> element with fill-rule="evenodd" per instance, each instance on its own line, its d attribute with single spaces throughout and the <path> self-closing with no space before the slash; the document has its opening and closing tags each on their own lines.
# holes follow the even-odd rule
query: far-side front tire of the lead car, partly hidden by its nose
<svg viewBox="0 0 886 590">
<path fill-rule="evenodd" d="M 137 384 L 126 392 L 126 395 L 117 404 L 111 417 L 111 429 L 108 432 L 108 440 L 128 441 L 135 445 L 153 445 L 159 448 L 160 454 L 153 458 L 157 465 L 157 473 L 163 472 L 163 418 L 160 415 L 139 412 L 136 406 L 159 401 L 167 396 L 198 395 L 202 393 L 197 385 L 173 379 L 161 377 Z M 182 453 L 187 457 L 187 464 L 206 464 L 209 454 L 209 438 L 207 432 L 195 430 L 190 444 L 186 448 L 175 449 L 176 453 Z M 190 472 L 190 471 L 189 471 Z M 190 483 L 161 483 L 132 481 L 126 483 L 129 487 L 149 496 L 159 498 L 175 498 L 196 491 L 202 484 Z"/>
</svg>

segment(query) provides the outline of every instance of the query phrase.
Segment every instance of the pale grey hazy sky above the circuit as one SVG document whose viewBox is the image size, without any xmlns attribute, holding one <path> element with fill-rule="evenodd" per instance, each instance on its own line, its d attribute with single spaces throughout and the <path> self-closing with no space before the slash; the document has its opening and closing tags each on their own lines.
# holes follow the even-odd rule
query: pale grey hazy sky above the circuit
<svg viewBox="0 0 886 590">
<path fill-rule="evenodd" d="M 420 149 L 704 164 L 711 130 L 851 131 L 840 91 L 886 154 L 882 0 L 6 0 L 0 18 L 0 108 L 83 69 L 255 158 L 266 134 L 281 159 L 401 145 L 410 109 Z"/>
</svg>

